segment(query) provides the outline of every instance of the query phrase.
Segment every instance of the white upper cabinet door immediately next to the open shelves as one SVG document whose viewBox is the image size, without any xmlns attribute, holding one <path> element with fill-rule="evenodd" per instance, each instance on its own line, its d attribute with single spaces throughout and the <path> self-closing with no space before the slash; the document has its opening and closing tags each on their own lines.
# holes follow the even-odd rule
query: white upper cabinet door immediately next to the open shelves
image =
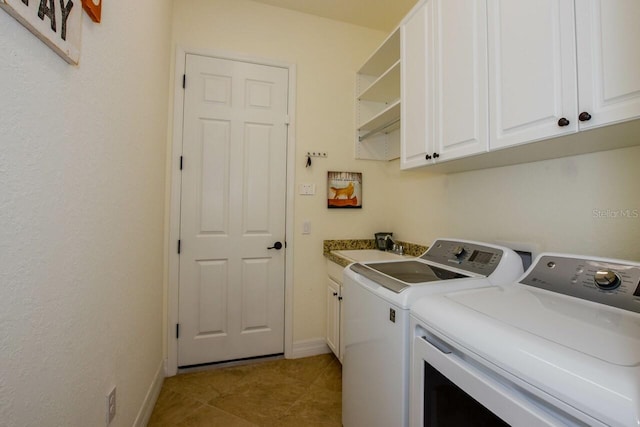
<svg viewBox="0 0 640 427">
<path fill-rule="evenodd" d="M 427 1 L 407 18 L 400 29 L 401 169 L 424 166 L 433 162 L 432 20 L 433 1 Z"/>
</svg>

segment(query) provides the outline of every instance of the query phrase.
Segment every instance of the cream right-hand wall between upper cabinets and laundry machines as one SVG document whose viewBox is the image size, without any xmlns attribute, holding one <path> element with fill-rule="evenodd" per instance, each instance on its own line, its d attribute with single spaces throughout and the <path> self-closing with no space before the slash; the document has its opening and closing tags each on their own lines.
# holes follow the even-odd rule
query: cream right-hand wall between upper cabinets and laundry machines
<svg viewBox="0 0 640 427">
<path fill-rule="evenodd" d="M 640 135 L 638 135 L 640 138 Z M 541 251 L 640 260 L 640 147 L 435 175 L 401 172 L 394 231 L 533 243 Z"/>
</svg>

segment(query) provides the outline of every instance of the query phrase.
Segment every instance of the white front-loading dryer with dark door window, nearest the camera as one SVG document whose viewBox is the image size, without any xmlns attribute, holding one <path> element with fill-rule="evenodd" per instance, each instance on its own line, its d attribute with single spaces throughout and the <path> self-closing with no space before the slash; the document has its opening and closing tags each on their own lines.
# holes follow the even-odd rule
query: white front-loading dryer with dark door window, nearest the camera
<svg viewBox="0 0 640 427">
<path fill-rule="evenodd" d="M 640 263 L 541 254 L 411 328 L 411 426 L 640 426 Z"/>
</svg>

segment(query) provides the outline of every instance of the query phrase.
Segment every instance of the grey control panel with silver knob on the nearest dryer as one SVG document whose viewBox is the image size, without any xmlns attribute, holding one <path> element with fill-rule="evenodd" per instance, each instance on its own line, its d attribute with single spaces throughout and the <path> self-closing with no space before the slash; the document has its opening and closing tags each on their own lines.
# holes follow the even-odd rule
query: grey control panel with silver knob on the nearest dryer
<svg viewBox="0 0 640 427">
<path fill-rule="evenodd" d="M 640 313 L 640 264 L 543 255 L 520 282 Z"/>
</svg>

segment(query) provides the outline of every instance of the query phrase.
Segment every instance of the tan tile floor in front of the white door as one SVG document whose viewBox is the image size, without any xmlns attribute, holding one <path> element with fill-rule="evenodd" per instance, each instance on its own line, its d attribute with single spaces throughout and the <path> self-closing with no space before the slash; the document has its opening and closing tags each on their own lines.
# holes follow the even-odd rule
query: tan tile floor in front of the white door
<svg viewBox="0 0 640 427">
<path fill-rule="evenodd" d="M 340 427 L 342 366 L 332 354 L 166 378 L 149 427 Z"/>
</svg>

